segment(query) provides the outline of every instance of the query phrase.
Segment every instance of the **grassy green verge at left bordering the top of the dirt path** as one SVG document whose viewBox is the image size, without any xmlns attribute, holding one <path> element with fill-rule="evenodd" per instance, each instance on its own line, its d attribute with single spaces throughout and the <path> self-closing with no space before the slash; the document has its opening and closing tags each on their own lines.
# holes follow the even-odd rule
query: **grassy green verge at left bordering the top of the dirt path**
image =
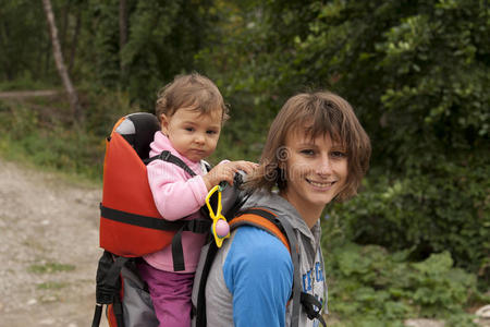
<svg viewBox="0 0 490 327">
<path fill-rule="evenodd" d="M 52 104 L 51 104 L 52 105 Z M 65 102 L 61 112 L 70 110 Z M 50 107 L 0 102 L 2 156 L 36 166 L 100 180 L 105 152 L 103 138 L 89 132 L 71 129 L 60 121 L 68 112 L 52 114 Z M 36 106 L 34 106 L 36 107 Z"/>
</svg>

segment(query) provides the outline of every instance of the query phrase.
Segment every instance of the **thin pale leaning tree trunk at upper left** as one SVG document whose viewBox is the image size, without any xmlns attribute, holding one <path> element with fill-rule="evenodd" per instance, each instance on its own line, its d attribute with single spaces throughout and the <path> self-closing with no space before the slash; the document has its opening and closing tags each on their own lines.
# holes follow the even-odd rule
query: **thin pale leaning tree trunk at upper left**
<svg viewBox="0 0 490 327">
<path fill-rule="evenodd" d="M 51 43 L 52 43 L 52 53 L 57 64 L 58 73 L 60 74 L 61 81 L 63 82 L 63 86 L 68 93 L 74 122 L 77 123 L 83 119 L 82 108 L 78 102 L 78 95 L 76 94 L 76 90 L 73 87 L 72 81 L 70 80 L 70 76 L 66 71 L 66 66 L 64 65 L 63 55 L 61 53 L 60 48 L 60 40 L 58 39 L 58 29 L 54 23 L 54 14 L 52 13 L 51 1 L 42 0 L 42 7 L 45 9 L 46 19 L 49 25 L 49 32 L 51 35 Z"/>
</svg>

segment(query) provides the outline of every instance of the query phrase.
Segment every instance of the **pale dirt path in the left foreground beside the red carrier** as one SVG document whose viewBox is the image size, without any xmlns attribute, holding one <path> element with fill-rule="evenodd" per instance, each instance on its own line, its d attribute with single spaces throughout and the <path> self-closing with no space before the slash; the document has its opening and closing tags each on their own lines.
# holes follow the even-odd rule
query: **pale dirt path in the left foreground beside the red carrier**
<svg viewBox="0 0 490 327">
<path fill-rule="evenodd" d="M 0 159 L 1 327 L 90 326 L 100 196 Z"/>
</svg>

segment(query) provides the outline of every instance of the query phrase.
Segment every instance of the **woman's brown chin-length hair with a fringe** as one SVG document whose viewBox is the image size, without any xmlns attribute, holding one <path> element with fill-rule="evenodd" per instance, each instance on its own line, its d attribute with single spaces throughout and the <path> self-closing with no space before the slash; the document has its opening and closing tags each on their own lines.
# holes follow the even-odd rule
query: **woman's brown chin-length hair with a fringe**
<svg viewBox="0 0 490 327">
<path fill-rule="evenodd" d="M 305 132 L 309 137 L 330 136 L 346 152 L 348 174 L 336 199 L 357 193 L 369 167 L 371 145 L 351 105 L 330 92 L 303 93 L 290 98 L 273 120 L 260 157 L 260 167 L 247 181 L 247 189 L 287 187 L 287 177 L 280 169 L 286 164 L 286 135 Z"/>
</svg>

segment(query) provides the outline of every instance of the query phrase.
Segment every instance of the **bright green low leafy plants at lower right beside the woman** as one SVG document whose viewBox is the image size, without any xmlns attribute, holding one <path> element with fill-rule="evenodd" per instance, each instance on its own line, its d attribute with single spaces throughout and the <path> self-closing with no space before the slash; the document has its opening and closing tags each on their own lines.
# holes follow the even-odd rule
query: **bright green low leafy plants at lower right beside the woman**
<svg viewBox="0 0 490 327">
<path fill-rule="evenodd" d="M 409 317 L 470 323 L 462 307 L 478 295 L 476 278 L 454 268 L 449 252 L 409 263 L 408 251 L 390 254 L 377 245 L 345 243 L 329 251 L 329 311 L 346 326 L 403 326 Z"/>
</svg>

